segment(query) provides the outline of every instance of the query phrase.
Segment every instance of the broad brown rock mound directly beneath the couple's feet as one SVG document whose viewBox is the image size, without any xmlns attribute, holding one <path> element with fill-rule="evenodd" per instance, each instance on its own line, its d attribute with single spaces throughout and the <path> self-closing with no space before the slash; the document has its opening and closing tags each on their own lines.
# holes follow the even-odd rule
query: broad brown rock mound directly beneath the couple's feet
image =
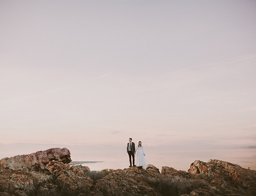
<svg viewBox="0 0 256 196">
<path fill-rule="evenodd" d="M 155 169 L 117 169 L 95 181 L 89 196 L 161 196 L 153 185 L 160 175 Z"/>
</svg>

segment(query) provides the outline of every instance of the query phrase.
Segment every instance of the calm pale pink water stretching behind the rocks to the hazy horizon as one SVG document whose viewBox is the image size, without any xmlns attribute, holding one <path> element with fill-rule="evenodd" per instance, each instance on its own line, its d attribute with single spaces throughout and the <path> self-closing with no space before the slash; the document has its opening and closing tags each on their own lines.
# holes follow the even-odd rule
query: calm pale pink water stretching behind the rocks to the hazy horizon
<svg viewBox="0 0 256 196">
<path fill-rule="evenodd" d="M 0 143 L 0 159 L 16 156 L 19 154 L 31 154 L 33 152 L 50 149 L 53 147 L 66 147 L 71 152 L 72 161 L 85 161 L 82 163 L 88 166 L 91 171 L 102 169 L 124 169 L 128 168 L 129 157 L 126 152 L 126 144 L 123 146 L 105 145 L 41 145 L 41 144 L 10 144 Z M 173 167 L 177 170 L 187 171 L 190 164 L 195 160 L 208 162 L 210 159 L 222 160 L 240 165 L 243 168 L 256 170 L 256 147 L 252 148 L 211 148 L 208 147 L 184 147 L 165 146 L 150 147 L 145 145 L 147 164 L 158 167 L 161 171 L 162 166 Z M 190 151 L 187 149 L 191 149 Z M 193 150 L 192 150 L 193 149 Z M 135 155 L 135 164 L 136 164 Z M 93 161 L 93 162 L 92 162 Z"/>
</svg>

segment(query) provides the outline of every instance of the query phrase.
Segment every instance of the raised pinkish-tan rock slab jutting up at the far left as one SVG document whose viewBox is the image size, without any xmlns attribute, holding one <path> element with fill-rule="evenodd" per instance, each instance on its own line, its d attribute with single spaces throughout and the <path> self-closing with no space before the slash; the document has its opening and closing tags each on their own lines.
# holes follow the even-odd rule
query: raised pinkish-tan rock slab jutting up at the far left
<svg viewBox="0 0 256 196">
<path fill-rule="evenodd" d="M 46 165 L 50 161 L 70 163 L 70 151 L 67 148 L 51 148 L 46 151 L 38 151 L 32 154 L 17 155 L 0 160 L 0 167 L 6 169 L 24 169 L 25 171 L 39 171 L 48 173 Z"/>
</svg>

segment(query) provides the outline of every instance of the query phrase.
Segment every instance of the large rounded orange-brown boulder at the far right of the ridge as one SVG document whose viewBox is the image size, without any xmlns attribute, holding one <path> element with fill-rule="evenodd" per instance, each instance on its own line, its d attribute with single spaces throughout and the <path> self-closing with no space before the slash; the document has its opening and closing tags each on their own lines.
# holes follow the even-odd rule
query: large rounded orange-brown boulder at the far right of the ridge
<svg viewBox="0 0 256 196">
<path fill-rule="evenodd" d="M 239 165 L 220 160 L 209 160 L 207 163 L 196 160 L 188 173 L 193 180 L 204 179 L 210 184 L 203 189 L 195 189 L 191 196 L 198 195 L 256 195 L 256 171 L 242 168 Z"/>
</svg>

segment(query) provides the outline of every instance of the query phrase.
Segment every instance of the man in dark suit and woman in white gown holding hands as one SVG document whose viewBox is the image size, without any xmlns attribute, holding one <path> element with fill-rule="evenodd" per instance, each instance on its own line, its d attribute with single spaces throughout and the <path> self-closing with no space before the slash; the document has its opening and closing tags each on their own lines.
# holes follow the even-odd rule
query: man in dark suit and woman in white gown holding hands
<svg viewBox="0 0 256 196">
<path fill-rule="evenodd" d="M 138 152 L 137 152 L 138 151 Z M 141 141 L 139 141 L 138 146 L 136 147 L 135 151 L 135 144 L 132 142 L 132 138 L 129 138 L 129 142 L 127 143 L 127 153 L 129 154 L 130 159 L 130 166 L 136 166 L 134 164 L 134 154 L 137 152 L 137 167 L 142 167 L 143 169 L 146 169 L 147 163 L 146 163 L 146 155 L 143 151 L 143 146 L 141 145 Z M 133 165 L 132 165 L 133 163 Z"/>
</svg>

